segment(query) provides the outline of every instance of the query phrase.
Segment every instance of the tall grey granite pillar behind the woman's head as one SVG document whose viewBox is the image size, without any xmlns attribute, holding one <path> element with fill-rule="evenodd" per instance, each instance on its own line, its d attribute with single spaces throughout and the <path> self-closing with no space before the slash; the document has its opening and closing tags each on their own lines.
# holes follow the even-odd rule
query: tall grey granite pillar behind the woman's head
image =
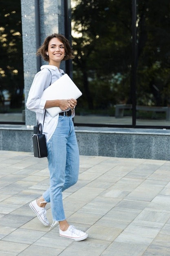
<svg viewBox="0 0 170 256">
<path fill-rule="evenodd" d="M 35 8 L 38 4 L 38 8 Z M 39 25 L 37 18 L 37 9 L 39 10 Z M 37 49 L 42 45 L 46 36 L 53 33 L 64 35 L 64 1 L 63 0 L 21 0 L 22 13 L 22 43 L 23 43 L 23 63 L 24 63 L 24 94 L 25 102 L 28 97 L 29 89 L 33 82 L 35 74 L 40 70 L 37 67 L 38 57 Z M 38 35 L 40 42 L 37 41 Z M 48 64 L 40 61 L 40 64 Z M 40 65 L 41 66 L 41 65 Z M 65 69 L 64 63 L 61 65 Z M 35 112 L 27 110 L 25 107 L 26 125 L 35 125 Z"/>
</svg>

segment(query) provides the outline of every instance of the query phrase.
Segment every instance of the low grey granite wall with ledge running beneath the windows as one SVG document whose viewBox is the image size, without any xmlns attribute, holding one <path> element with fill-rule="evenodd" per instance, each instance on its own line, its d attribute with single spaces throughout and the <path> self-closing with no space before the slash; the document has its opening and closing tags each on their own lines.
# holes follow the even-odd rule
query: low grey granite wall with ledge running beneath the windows
<svg viewBox="0 0 170 256">
<path fill-rule="evenodd" d="M 75 127 L 80 155 L 170 160 L 170 132 Z M 33 126 L 0 125 L 0 150 L 33 152 Z"/>
</svg>

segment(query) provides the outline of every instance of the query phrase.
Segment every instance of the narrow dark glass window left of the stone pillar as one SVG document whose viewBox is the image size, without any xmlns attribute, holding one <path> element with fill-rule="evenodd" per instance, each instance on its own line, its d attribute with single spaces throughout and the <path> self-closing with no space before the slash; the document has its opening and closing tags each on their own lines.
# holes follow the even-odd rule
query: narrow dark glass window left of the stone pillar
<svg viewBox="0 0 170 256">
<path fill-rule="evenodd" d="M 20 0 L 1 1 L 0 123 L 24 123 L 24 78 Z"/>
</svg>

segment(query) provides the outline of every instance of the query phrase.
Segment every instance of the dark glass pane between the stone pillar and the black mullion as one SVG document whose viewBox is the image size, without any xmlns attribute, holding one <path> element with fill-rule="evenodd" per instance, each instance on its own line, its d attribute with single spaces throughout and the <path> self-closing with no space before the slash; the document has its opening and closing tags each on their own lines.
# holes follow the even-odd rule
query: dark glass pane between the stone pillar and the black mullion
<svg viewBox="0 0 170 256">
<path fill-rule="evenodd" d="M 131 11 L 130 0 L 72 1 L 73 79 L 83 93 L 75 123 L 132 124 Z"/>
</svg>

